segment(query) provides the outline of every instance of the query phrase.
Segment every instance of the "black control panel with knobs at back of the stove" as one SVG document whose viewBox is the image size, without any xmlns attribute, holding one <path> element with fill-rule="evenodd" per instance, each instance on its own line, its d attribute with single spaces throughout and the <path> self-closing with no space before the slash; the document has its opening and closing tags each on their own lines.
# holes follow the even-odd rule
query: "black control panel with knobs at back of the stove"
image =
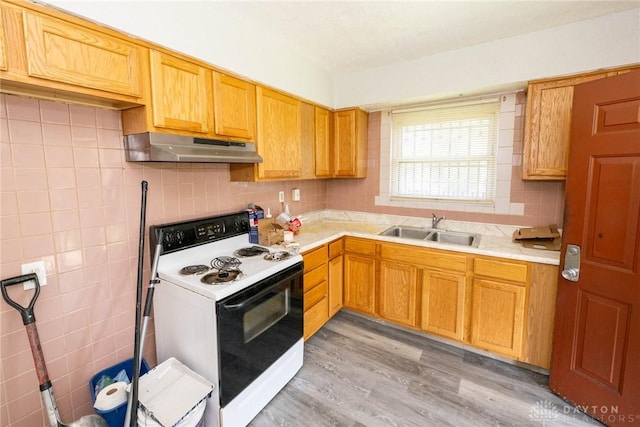
<svg viewBox="0 0 640 427">
<path fill-rule="evenodd" d="M 152 252 L 158 244 L 160 231 L 162 231 L 162 253 L 169 253 L 249 233 L 249 215 L 246 211 L 242 211 L 185 222 L 152 225 L 149 228 Z"/>
</svg>

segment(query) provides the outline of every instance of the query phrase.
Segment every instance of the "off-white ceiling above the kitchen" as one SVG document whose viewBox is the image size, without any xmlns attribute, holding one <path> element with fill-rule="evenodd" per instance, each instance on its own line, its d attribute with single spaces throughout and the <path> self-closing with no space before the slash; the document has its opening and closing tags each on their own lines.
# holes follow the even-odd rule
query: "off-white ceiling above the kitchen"
<svg viewBox="0 0 640 427">
<path fill-rule="evenodd" d="M 267 0 L 215 7 L 239 25 L 264 28 L 265 37 L 335 76 L 639 8 L 640 0 Z"/>
</svg>

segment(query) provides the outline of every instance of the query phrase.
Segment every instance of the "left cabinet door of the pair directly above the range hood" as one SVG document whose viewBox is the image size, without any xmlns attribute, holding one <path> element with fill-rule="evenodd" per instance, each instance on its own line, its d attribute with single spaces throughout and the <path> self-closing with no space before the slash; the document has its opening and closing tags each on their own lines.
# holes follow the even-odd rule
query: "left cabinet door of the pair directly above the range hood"
<svg viewBox="0 0 640 427">
<path fill-rule="evenodd" d="M 149 51 L 151 102 L 156 127 L 207 133 L 213 110 L 209 70 Z"/>
</svg>

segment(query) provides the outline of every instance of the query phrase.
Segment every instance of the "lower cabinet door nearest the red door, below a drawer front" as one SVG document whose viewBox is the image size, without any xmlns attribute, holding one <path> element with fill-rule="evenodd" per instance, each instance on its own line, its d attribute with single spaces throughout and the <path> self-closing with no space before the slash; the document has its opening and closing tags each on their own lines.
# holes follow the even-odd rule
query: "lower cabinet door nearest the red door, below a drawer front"
<svg viewBox="0 0 640 427">
<path fill-rule="evenodd" d="M 471 344 L 520 359 L 525 296 L 522 285 L 474 279 Z"/>
</svg>

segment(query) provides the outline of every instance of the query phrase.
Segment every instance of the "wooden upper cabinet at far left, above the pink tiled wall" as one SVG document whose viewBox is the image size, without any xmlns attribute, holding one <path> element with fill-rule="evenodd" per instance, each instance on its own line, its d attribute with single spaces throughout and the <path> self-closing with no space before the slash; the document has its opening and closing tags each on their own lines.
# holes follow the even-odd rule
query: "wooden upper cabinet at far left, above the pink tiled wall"
<svg viewBox="0 0 640 427">
<path fill-rule="evenodd" d="M 143 47 L 113 30 L 24 5 L 0 3 L 3 92 L 115 107 L 141 102 Z"/>
</svg>

